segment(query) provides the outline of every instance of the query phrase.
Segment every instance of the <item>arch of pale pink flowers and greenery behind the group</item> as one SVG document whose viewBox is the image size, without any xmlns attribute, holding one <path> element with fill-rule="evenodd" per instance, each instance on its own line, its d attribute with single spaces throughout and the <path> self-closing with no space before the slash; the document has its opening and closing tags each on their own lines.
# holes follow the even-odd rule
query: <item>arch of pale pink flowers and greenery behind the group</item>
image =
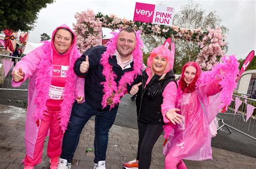
<svg viewBox="0 0 256 169">
<path fill-rule="evenodd" d="M 77 45 L 81 53 L 88 48 L 102 44 L 102 27 L 112 31 L 124 27 L 132 27 L 134 30 L 141 30 L 144 34 L 155 34 L 159 37 L 172 39 L 182 39 L 193 41 L 198 44 L 199 53 L 197 62 L 201 68 L 209 70 L 215 65 L 220 57 L 225 54 L 225 37 L 220 29 L 201 30 L 199 27 L 195 30 L 189 30 L 178 26 L 154 25 L 151 23 L 133 22 L 125 18 L 118 18 L 115 15 L 103 15 L 95 13 L 92 10 L 76 13 L 77 23 L 74 23 L 74 30 L 77 34 Z"/>
</svg>

